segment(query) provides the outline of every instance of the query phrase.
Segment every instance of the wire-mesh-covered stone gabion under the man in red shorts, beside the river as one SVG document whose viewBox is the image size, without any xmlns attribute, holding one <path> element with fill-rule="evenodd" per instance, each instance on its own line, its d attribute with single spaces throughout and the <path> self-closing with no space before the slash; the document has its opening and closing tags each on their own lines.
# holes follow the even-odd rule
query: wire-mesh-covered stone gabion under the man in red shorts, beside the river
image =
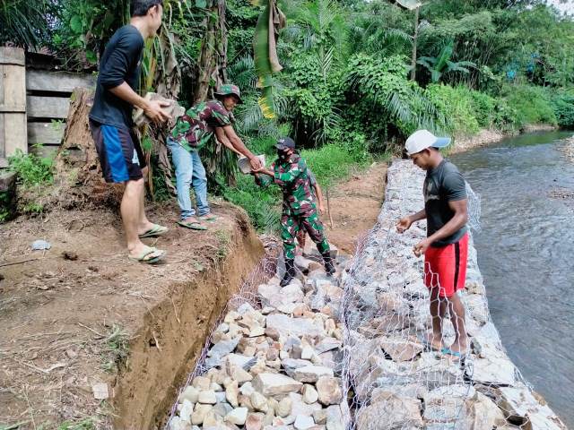
<svg viewBox="0 0 574 430">
<path fill-rule="evenodd" d="M 378 226 L 344 285 L 345 356 L 351 359 L 343 376 L 354 392 L 354 428 L 565 429 L 506 355 L 472 245 L 462 292 L 471 354 L 461 362 L 423 344 L 431 328 L 429 292 L 422 259 L 412 249 L 426 231 L 422 223 L 404 235 L 395 229 L 397 219 L 422 209 L 423 176 L 410 161 L 389 168 Z M 446 320 L 449 345 L 455 333 Z"/>
</svg>

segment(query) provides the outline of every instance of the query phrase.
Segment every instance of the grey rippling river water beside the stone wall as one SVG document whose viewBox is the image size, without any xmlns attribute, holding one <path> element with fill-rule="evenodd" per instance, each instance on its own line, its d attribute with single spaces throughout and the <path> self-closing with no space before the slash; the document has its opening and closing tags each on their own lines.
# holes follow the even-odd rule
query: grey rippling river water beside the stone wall
<svg viewBox="0 0 574 430">
<path fill-rule="evenodd" d="M 574 429 L 574 160 L 561 151 L 571 135 L 524 134 L 450 159 L 482 199 L 474 243 L 502 343 Z"/>
</svg>

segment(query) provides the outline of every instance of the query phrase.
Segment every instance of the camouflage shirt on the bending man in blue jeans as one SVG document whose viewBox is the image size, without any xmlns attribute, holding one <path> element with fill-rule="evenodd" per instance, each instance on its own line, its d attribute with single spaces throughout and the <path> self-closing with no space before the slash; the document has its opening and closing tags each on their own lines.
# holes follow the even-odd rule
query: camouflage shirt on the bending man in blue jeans
<svg viewBox="0 0 574 430">
<path fill-rule="evenodd" d="M 219 100 L 202 101 L 178 117 L 171 130 L 171 138 L 186 150 L 201 150 L 215 133 L 215 127 L 235 122 L 233 114 Z"/>
</svg>

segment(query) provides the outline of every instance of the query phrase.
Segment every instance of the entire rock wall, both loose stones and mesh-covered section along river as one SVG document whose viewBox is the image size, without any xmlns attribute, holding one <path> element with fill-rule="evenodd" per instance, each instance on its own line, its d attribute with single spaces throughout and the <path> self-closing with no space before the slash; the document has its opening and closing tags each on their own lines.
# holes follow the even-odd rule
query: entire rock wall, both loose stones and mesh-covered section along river
<svg viewBox="0 0 574 430">
<path fill-rule="evenodd" d="M 298 256 L 297 280 L 243 288 L 222 314 L 180 392 L 169 430 L 564 430 L 522 379 L 491 322 L 471 246 L 462 297 L 471 350 L 464 361 L 425 348 L 429 292 L 413 245 L 420 223 L 396 220 L 422 206 L 423 173 L 388 170 L 378 224 L 354 259 Z M 445 321 L 445 343 L 454 339 Z"/>
</svg>

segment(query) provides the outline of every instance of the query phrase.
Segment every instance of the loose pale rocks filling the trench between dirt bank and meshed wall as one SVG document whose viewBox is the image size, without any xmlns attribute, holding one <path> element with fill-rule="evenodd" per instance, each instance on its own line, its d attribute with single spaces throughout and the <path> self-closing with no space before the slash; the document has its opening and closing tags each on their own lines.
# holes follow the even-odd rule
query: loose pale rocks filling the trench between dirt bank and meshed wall
<svg viewBox="0 0 574 430">
<path fill-rule="evenodd" d="M 170 430 L 344 430 L 339 285 L 350 262 L 336 259 L 335 279 L 316 257 L 297 257 L 299 279 L 281 288 L 275 277 L 257 288 L 257 305 L 225 315 Z"/>
</svg>

